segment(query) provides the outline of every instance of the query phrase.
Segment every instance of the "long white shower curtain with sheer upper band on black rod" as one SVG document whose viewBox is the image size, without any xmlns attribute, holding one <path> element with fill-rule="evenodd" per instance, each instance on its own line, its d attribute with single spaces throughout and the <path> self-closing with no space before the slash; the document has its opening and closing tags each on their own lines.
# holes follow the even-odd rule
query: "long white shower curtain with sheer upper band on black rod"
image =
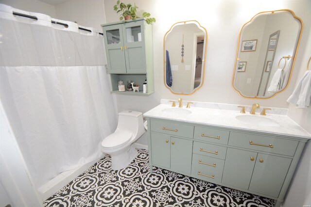
<svg viewBox="0 0 311 207">
<path fill-rule="evenodd" d="M 36 187 L 102 156 L 117 124 L 103 37 L 78 27 L 0 4 L 0 100 Z"/>
</svg>

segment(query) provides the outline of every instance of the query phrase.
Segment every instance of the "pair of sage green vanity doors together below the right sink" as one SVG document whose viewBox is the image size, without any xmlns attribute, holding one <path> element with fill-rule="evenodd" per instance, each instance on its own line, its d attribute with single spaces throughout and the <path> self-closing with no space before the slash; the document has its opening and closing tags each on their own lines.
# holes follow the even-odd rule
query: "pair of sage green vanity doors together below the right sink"
<svg viewBox="0 0 311 207">
<path fill-rule="evenodd" d="M 223 184 L 277 197 L 292 159 L 228 148 Z"/>
</svg>

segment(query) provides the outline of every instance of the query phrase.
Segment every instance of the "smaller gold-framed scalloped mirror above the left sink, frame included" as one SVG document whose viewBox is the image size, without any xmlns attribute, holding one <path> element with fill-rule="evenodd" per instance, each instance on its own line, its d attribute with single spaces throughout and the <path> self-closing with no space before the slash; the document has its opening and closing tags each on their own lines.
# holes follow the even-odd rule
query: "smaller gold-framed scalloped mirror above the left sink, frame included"
<svg viewBox="0 0 311 207">
<path fill-rule="evenodd" d="M 176 95 L 191 95 L 204 83 L 207 30 L 195 20 L 173 24 L 163 38 L 164 85 Z"/>
</svg>

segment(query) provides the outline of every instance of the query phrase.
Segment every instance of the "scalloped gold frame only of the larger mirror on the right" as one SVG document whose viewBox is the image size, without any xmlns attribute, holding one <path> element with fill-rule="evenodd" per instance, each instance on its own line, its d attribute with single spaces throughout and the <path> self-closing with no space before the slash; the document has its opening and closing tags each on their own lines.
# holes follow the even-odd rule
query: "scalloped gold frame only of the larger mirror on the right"
<svg viewBox="0 0 311 207">
<path fill-rule="evenodd" d="M 241 32 L 243 31 L 243 28 L 244 28 L 247 24 L 249 24 L 250 22 L 253 21 L 253 19 L 254 19 L 255 17 L 260 16 L 260 15 L 264 15 L 264 14 L 274 14 L 274 13 L 279 13 L 279 12 L 289 12 L 289 13 L 292 14 L 292 16 L 293 16 L 295 19 L 297 19 L 297 20 L 300 22 L 300 24 L 301 24 L 301 29 L 300 29 L 299 38 L 298 38 L 298 41 L 297 41 L 296 51 L 295 51 L 294 56 L 292 57 L 292 58 L 293 58 L 293 64 L 292 64 L 292 67 L 291 67 L 291 71 L 290 71 L 290 75 L 289 75 L 287 84 L 286 84 L 286 86 L 285 86 L 282 90 L 276 92 L 274 95 L 269 96 L 269 97 L 257 97 L 257 96 L 254 96 L 254 97 L 247 97 L 247 96 L 243 96 L 243 95 L 241 94 L 241 92 L 240 92 L 238 89 L 236 89 L 236 88 L 234 87 L 234 78 L 235 78 L 235 75 L 236 75 L 236 65 L 237 65 L 237 62 L 239 61 L 239 57 L 238 57 L 238 56 L 239 56 L 239 48 L 240 48 L 239 46 L 240 46 L 240 42 L 241 42 Z M 233 88 L 236 92 L 238 92 L 238 94 L 239 94 L 240 96 L 242 96 L 243 98 L 249 98 L 249 99 L 269 99 L 269 98 L 272 98 L 272 97 L 276 96 L 277 94 L 283 92 L 284 90 L 286 90 L 286 88 L 288 87 L 288 85 L 289 85 L 289 83 L 290 83 L 291 77 L 292 77 L 293 68 L 294 68 L 294 64 L 295 64 L 295 61 L 296 61 L 296 55 L 297 55 L 297 52 L 298 52 L 298 48 L 299 48 L 299 44 L 300 44 L 300 39 L 301 39 L 302 31 L 303 31 L 303 22 L 302 22 L 301 18 L 299 18 L 298 16 L 296 16 L 295 13 L 294 13 L 292 10 L 290 10 L 290 9 L 281 9 L 281 10 L 275 10 L 275 11 L 259 12 L 257 15 L 253 16 L 248 22 L 246 22 L 246 23 L 242 26 L 242 28 L 241 28 L 241 30 L 240 30 L 240 33 L 239 33 L 238 46 L 237 46 L 237 53 L 236 53 L 236 57 L 235 57 L 234 70 L 233 70 L 233 76 L 232 76 L 232 88 Z"/>
</svg>

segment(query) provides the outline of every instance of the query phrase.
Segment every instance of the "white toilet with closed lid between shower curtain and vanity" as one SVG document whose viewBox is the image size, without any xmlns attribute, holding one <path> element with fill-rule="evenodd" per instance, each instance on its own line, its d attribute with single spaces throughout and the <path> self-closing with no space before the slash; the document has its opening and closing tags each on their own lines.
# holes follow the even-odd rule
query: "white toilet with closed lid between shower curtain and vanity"
<svg viewBox="0 0 311 207">
<path fill-rule="evenodd" d="M 142 113 L 121 111 L 117 129 L 102 142 L 102 151 L 111 156 L 112 170 L 126 167 L 137 156 L 133 143 L 145 132 Z"/>
</svg>

